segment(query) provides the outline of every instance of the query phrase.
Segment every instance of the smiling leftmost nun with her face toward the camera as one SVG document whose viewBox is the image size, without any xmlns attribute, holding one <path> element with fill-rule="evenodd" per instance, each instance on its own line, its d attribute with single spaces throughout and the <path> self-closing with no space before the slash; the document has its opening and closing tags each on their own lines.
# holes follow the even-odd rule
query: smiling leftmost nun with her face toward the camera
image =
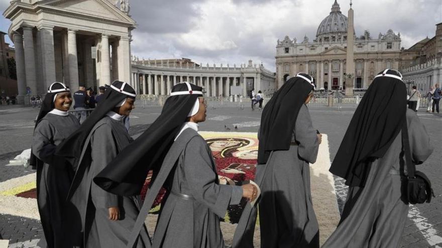
<svg viewBox="0 0 442 248">
<path fill-rule="evenodd" d="M 65 247 L 65 217 L 75 214 L 66 202 L 73 170 L 63 157 L 55 155 L 56 146 L 80 126 L 67 112 L 71 104 L 69 89 L 62 83 L 51 84 L 32 138 L 30 164 L 37 169 L 37 204 L 49 248 Z"/>
</svg>

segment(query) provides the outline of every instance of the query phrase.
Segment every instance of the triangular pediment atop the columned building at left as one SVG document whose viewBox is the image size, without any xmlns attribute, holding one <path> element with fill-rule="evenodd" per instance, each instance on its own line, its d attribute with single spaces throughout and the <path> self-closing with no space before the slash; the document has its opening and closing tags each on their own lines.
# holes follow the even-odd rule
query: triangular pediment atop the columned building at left
<svg viewBox="0 0 442 248">
<path fill-rule="evenodd" d="M 132 18 L 112 5 L 108 0 L 43 0 L 38 2 L 38 4 L 75 14 L 135 24 Z"/>
</svg>

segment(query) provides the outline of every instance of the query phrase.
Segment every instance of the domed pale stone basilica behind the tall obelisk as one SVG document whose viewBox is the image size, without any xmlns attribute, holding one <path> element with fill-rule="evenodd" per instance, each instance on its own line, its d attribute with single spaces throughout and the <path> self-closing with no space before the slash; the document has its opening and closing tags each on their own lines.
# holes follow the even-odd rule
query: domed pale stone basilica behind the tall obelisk
<svg viewBox="0 0 442 248">
<path fill-rule="evenodd" d="M 278 87 L 299 72 L 313 77 L 317 88 L 345 89 L 347 63 L 348 18 L 341 13 L 338 2 L 319 25 L 316 38 L 301 42 L 286 36 L 276 46 L 276 80 Z M 351 72 L 355 89 L 368 88 L 374 76 L 385 68 L 399 69 L 400 34 L 388 30 L 377 38 L 368 31 L 352 37 L 354 72 Z M 350 74 L 350 73 L 349 73 Z"/>
</svg>

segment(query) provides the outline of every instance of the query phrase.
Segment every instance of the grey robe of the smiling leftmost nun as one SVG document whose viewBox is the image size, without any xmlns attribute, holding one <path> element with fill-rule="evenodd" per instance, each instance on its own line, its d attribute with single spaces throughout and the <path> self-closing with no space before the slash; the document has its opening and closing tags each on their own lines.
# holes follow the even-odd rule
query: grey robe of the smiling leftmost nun
<svg viewBox="0 0 442 248">
<path fill-rule="evenodd" d="M 80 126 L 75 116 L 46 114 L 34 130 L 32 151 L 44 163 L 37 168 L 38 207 L 48 245 L 64 247 L 66 216 L 74 216 L 66 204 L 73 170 L 54 155 L 55 148 Z M 75 215 L 78 216 L 78 215 Z"/>
</svg>

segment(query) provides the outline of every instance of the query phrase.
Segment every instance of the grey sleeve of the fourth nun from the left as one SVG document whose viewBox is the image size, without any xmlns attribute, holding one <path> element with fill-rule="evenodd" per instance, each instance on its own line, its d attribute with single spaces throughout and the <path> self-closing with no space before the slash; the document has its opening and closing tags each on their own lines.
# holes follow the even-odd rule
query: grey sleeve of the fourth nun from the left
<svg viewBox="0 0 442 248">
<path fill-rule="evenodd" d="M 307 106 L 299 109 L 295 124 L 295 139 L 298 143 L 298 155 L 309 163 L 316 162 L 319 143 L 316 130 L 313 128 Z"/>
</svg>

